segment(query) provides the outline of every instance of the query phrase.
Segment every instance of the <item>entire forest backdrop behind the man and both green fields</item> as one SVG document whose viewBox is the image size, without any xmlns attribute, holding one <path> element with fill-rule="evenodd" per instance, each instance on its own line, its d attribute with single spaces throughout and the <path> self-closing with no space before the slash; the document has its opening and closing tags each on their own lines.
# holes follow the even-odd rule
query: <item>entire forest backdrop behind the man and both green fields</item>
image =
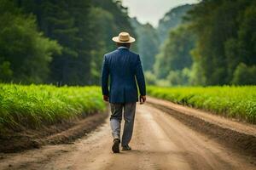
<svg viewBox="0 0 256 170">
<path fill-rule="evenodd" d="M 129 31 L 148 84 L 256 84 L 256 2 L 202 0 L 154 28 L 113 0 L 0 0 L 0 82 L 100 84 L 111 37 Z"/>
</svg>

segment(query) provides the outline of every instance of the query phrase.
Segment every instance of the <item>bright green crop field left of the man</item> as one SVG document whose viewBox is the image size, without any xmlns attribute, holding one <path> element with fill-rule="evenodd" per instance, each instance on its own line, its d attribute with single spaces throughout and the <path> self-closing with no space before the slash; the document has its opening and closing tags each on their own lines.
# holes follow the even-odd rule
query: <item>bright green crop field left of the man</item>
<svg viewBox="0 0 256 170">
<path fill-rule="evenodd" d="M 0 128 L 38 127 L 104 109 L 98 87 L 0 84 Z"/>
</svg>

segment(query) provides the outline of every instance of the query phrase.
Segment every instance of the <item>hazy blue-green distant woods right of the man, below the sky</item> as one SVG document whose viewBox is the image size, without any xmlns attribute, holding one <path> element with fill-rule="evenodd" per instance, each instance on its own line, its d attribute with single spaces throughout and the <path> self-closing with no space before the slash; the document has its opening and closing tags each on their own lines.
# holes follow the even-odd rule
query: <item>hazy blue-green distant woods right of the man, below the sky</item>
<svg viewBox="0 0 256 170">
<path fill-rule="evenodd" d="M 142 56 L 148 84 L 189 84 L 189 67 L 192 65 L 189 51 L 195 45 L 195 35 L 187 31 L 183 17 L 193 7 L 185 4 L 172 8 L 156 28 L 148 23 L 140 24 L 136 18 L 131 20 L 138 35 L 138 52 Z"/>
</svg>

